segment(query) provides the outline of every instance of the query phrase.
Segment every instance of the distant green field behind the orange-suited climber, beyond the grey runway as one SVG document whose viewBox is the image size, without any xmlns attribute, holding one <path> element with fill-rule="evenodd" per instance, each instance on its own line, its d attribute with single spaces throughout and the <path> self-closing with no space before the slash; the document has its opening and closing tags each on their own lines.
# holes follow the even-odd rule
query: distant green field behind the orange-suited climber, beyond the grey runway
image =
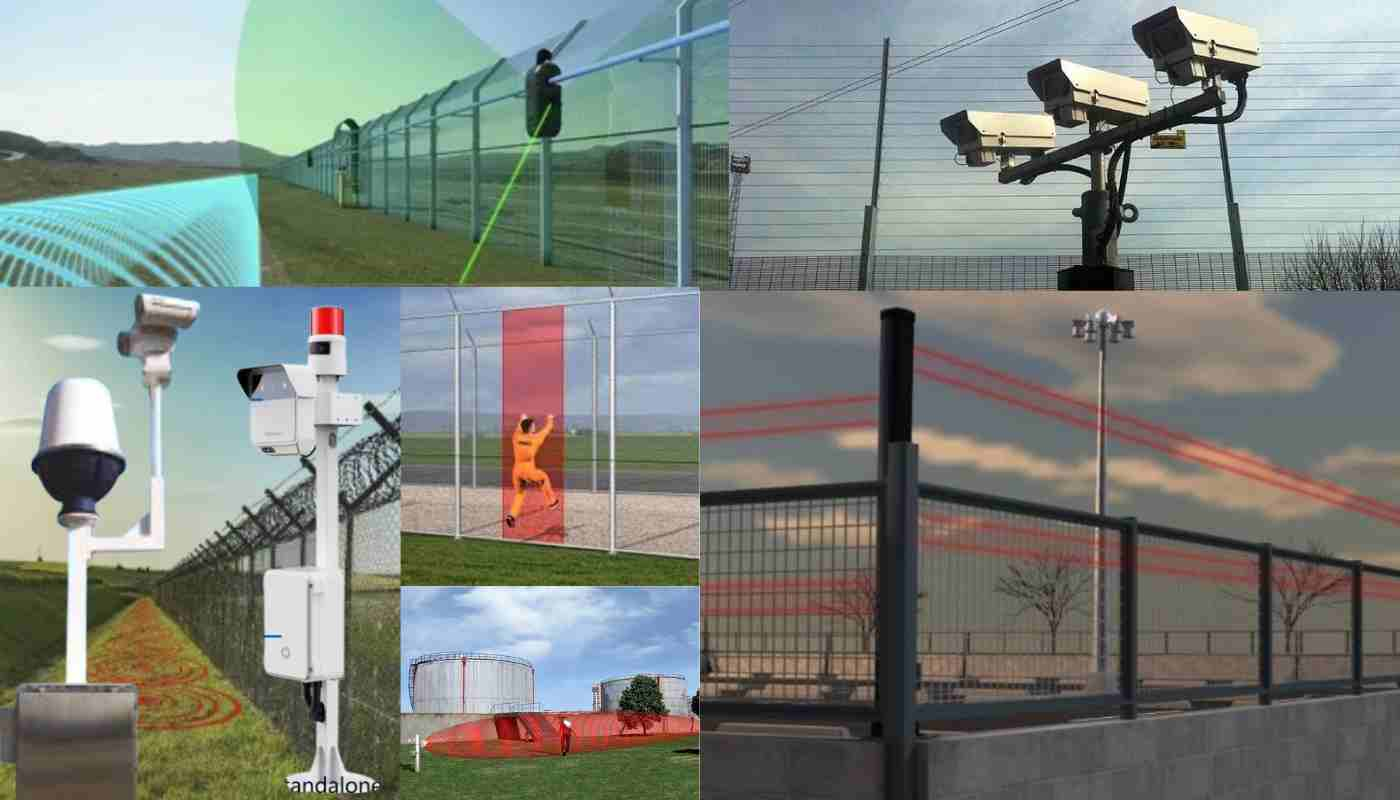
<svg viewBox="0 0 1400 800">
<path fill-rule="evenodd" d="M 587 467 L 592 460 L 592 436 L 564 437 L 564 464 Z M 487 464 L 500 464 L 501 437 L 477 436 L 476 457 Z M 470 432 L 462 440 L 462 455 L 466 462 L 472 457 Z M 608 436 L 598 433 L 598 457 L 606 464 Z M 406 433 L 403 434 L 403 461 L 406 464 L 451 464 L 451 433 Z M 700 434 L 697 433 L 619 433 L 617 464 L 629 469 L 679 469 L 700 464 Z"/>
</svg>

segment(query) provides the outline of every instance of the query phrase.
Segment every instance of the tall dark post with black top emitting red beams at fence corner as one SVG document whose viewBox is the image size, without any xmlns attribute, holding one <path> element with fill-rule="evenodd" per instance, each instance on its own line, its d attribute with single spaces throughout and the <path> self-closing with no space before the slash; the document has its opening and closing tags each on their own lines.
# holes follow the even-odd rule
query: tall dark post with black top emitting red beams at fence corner
<svg viewBox="0 0 1400 800">
<path fill-rule="evenodd" d="M 881 311 L 876 467 L 875 709 L 885 745 L 885 797 L 914 796 L 914 661 L 918 594 L 918 447 L 913 437 L 914 312 Z"/>
</svg>

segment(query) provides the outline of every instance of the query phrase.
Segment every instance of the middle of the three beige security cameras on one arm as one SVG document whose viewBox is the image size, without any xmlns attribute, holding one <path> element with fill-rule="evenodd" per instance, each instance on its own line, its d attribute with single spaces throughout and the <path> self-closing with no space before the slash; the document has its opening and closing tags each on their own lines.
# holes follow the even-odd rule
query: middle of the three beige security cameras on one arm
<svg viewBox="0 0 1400 800">
<path fill-rule="evenodd" d="M 1064 59 L 1026 73 L 1046 113 L 1065 127 L 1085 122 L 1121 125 L 1147 116 L 1147 83 Z"/>
</svg>

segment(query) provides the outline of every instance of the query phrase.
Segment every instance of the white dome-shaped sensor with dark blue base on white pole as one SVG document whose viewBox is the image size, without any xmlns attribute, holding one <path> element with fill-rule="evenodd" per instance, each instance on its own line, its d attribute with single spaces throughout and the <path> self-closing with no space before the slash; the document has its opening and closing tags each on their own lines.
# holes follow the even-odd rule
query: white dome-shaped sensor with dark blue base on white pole
<svg viewBox="0 0 1400 800">
<path fill-rule="evenodd" d="M 112 394 L 92 378 L 66 378 L 43 402 L 39 453 L 29 464 L 49 496 L 63 504 L 64 528 L 97 521 L 97 503 L 126 469 L 116 440 Z"/>
</svg>

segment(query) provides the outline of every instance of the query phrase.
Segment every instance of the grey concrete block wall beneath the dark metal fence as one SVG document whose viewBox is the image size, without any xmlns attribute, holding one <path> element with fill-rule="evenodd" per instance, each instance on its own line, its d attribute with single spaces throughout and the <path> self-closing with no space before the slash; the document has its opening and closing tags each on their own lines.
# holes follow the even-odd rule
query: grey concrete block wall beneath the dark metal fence
<svg viewBox="0 0 1400 800">
<path fill-rule="evenodd" d="M 701 797 L 881 799 L 881 748 L 701 736 Z M 967 736 L 918 745 L 923 800 L 1400 796 L 1400 692 Z"/>
</svg>

